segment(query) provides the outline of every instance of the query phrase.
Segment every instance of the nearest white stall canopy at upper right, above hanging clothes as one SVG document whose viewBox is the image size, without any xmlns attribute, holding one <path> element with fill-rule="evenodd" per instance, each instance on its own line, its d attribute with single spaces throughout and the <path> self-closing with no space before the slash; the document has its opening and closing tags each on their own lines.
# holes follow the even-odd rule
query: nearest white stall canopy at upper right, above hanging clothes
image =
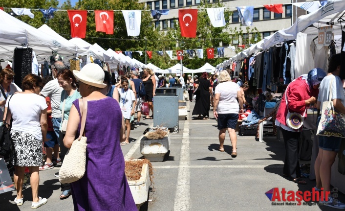
<svg viewBox="0 0 345 211">
<path fill-rule="evenodd" d="M 268 47 L 283 42 L 284 40 L 294 40 L 297 38 L 297 33 L 302 32 L 308 26 L 313 23 L 318 23 L 323 18 L 330 16 L 332 14 L 343 13 L 345 10 L 345 0 L 328 0 L 327 3 L 320 7 L 318 10 L 308 14 L 302 15 L 297 18 L 297 21 L 290 27 L 286 29 L 282 29 L 274 33 L 272 36 L 266 37 L 263 43 L 263 49 L 267 49 Z M 336 15 L 336 17 L 338 16 Z M 317 26 L 319 27 L 320 24 Z"/>
</svg>

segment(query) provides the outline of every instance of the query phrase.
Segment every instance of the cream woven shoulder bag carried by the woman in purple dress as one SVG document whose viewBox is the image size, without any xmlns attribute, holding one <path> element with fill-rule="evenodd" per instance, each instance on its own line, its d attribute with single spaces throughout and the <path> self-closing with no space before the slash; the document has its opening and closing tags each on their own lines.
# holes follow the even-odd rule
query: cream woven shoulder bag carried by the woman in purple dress
<svg viewBox="0 0 345 211">
<path fill-rule="evenodd" d="M 85 123 L 87 114 L 87 99 L 79 99 L 81 114 L 81 125 L 78 139 L 74 140 L 68 149 L 63 164 L 59 171 L 59 180 L 62 184 L 73 183 L 81 179 L 85 174 L 86 168 L 86 146 Z M 83 136 L 84 135 L 84 136 Z"/>
</svg>

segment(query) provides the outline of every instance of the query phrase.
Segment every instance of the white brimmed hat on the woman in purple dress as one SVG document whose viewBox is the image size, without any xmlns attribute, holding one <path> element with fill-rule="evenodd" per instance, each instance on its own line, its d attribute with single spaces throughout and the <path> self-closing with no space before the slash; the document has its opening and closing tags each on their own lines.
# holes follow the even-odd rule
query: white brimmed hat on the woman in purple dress
<svg viewBox="0 0 345 211">
<path fill-rule="evenodd" d="M 107 84 L 103 83 L 104 81 L 104 71 L 97 64 L 87 64 L 82 70 L 73 70 L 74 76 L 81 82 L 98 87 L 105 88 Z"/>
</svg>

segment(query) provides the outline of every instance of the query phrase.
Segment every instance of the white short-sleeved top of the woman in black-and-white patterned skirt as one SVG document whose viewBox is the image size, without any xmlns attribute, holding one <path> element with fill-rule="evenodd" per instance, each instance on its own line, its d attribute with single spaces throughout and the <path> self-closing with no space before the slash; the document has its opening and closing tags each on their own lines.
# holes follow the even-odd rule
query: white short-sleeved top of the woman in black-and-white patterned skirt
<svg viewBox="0 0 345 211">
<path fill-rule="evenodd" d="M 37 140 L 42 141 L 40 115 L 48 107 L 44 97 L 19 93 L 14 94 L 10 101 L 10 105 L 8 100 L 6 101 L 6 107 L 10 107 L 13 118 L 11 130 L 32 134 Z"/>
</svg>

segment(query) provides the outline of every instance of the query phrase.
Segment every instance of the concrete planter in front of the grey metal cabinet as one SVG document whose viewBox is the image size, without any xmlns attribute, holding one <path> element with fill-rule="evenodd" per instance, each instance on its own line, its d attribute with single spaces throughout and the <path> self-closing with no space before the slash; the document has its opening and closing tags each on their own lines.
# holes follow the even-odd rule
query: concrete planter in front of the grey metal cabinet
<svg viewBox="0 0 345 211">
<path fill-rule="evenodd" d="M 169 145 L 169 132 L 163 139 L 149 140 L 147 136 L 144 136 L 140 140 L 140 153 L 150 162 L 163 162 L 165 154 L 169 151 Z"/>
</svg>

